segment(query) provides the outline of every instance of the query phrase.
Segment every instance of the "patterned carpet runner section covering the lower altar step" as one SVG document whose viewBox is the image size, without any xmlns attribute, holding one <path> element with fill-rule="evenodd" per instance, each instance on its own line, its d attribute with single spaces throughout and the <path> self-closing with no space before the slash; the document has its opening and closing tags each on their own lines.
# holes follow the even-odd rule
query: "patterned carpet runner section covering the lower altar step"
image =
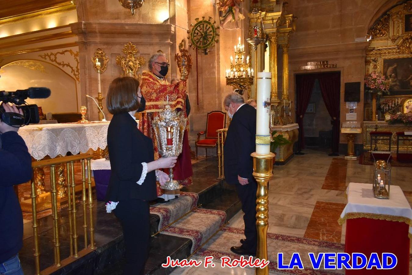
<svg viewBox="0 0 412 275">
<path fill-rule="evenodd" d="M 162 234 L 189 238 L 193 253 L 225 224 L 226 213 L 219 210 L 195 209 L 193 212 L 169 226 Z"/>
</svg>

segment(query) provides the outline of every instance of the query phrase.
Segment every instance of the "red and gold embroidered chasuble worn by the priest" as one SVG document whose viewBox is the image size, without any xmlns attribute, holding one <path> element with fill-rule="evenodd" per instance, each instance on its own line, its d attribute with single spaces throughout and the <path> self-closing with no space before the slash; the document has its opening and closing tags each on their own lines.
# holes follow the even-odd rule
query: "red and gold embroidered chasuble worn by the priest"
<svg viewBox="0 0 412 275">
<path fill-rule="evenodd" d="M 163 110 L 164 104 L 169 99 L 169 105 L 173 110 L 183 110 L 185 117 L 185 99 L 186 99 L 186 81 L 180 81 L 177 84 L 169 84 L 165 78 L 159 79 L 152 72 L 144 71 L 140 83 L 142 96 L 146 100 L 146 108 L 140 113 L 139 129 L 153 141 L 155 148 L 155 160 L 162 157 L 157 148 L 157 140 L 155 131 L 153 130 L 153 119 Z M 192 162 L 190 160 L 190 147 L 188 139 L 189 121 L 183 136 L 183 150 L 179 155 L 175 167 L 173 167 L 173 179 L 179 181 L 183 186 L 192 184 Z M 164 169 L 164 172 L 169 174 L 169 169 Z M 163 194 L 163 189 L 157 183 L 157 196 Z"/>
</svg>

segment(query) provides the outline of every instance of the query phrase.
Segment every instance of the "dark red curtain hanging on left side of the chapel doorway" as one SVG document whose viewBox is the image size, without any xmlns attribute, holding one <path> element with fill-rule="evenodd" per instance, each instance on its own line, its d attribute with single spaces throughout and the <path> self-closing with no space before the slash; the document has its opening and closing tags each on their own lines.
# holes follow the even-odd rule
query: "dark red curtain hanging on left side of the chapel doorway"
<svg viewBox="0 0 412 275">
<path fill-rule="evenodd" d="M 296 121 L 299 124 L 300 148 L 305 148 L 303 117 L 309 105 L 317 74 L 296 75 Z"/>
</svg>

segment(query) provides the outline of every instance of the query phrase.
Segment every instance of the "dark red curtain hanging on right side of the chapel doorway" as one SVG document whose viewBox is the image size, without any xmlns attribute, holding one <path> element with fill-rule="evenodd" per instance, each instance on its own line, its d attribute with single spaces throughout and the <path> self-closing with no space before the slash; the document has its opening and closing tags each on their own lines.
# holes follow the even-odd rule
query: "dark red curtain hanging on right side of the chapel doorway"
<svg viewBox="0 0 412 275">
<path fill-rule="evenodd" d="M 337 154 L 340 129 L 340 73 L 320 73 L 318 80 L 323 101 L 332 118 L 332 153 Z"/>
</svg>

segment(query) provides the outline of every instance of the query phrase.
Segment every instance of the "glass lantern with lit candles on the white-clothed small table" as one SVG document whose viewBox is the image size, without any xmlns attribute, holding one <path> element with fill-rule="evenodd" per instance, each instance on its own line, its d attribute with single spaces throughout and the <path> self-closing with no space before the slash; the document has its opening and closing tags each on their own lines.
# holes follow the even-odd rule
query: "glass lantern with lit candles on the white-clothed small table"
<svg viewBox="0 0 412 275">
<path fill-rule="evenodd" d="M 375 162 L 373 193 L 378 199 L 389 199 L 391 186 L 391 166 L 384 160 Z"/>
</svg>

